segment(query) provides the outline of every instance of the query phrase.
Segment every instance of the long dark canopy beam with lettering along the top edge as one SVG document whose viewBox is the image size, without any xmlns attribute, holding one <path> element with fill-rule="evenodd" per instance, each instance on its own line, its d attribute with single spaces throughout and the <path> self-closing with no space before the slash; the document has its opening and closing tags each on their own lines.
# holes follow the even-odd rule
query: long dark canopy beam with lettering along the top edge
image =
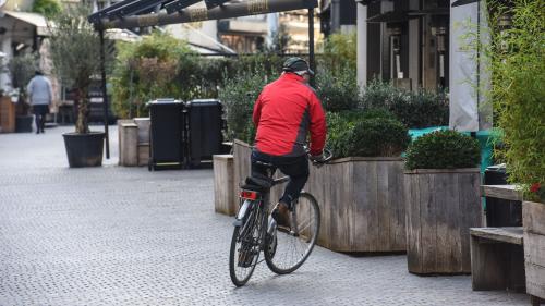
<svg viewBox="0 0 545 306">
<path fill-rule="evenodd" d="M 101 19 L 98 22 L 89 19 L 89 22 L 95 23 L 97 29 L 134 28 L 313 9 L 317 5 L 317 0 L 249 0 L 235 3 L 228 2 L 210 10 L 189 8 L 172 14 L 161 12 L 158 14 L 128 16 L 113 21 Z"/>
</svg>

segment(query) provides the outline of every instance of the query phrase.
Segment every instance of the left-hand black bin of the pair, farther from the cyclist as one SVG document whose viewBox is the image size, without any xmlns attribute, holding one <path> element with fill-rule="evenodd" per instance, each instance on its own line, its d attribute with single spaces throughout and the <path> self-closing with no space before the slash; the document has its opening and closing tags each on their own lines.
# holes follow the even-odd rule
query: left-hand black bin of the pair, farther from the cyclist
<svg viewBox="0 0 545 306">
<path fill-rule="evenodd" d="M 184 160 L 184 106 L 174 99 L 148 102 L 150 117 L 148 169 L 181 169 Z"/>
</svg>

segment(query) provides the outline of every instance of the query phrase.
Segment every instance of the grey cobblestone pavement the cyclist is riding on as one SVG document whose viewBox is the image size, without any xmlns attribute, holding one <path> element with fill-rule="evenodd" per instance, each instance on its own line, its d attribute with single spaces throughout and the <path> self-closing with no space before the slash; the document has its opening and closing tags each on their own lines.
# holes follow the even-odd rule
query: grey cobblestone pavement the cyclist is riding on
<svg viewBox="0 0 545 306">
<path fill-rule="evenodd" d="M 416 277 L 405 256 L 316 247 L 295 273 L 229 279 L 211 170 L 69 169 L 61 133 L 0 134 L 0 305 L 529 305 L 471 279 Z M 95 127 L 95 130 L 98 130 Z"/>
</svg>

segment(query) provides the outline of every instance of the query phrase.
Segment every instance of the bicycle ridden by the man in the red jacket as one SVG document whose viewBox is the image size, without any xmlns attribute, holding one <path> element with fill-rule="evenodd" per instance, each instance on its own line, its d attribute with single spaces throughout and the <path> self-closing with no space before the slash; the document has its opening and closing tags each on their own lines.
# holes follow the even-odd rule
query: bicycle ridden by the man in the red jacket
<svg viewBox="0 0 545 306">
<path fill-rule="evenodd" d="M 329 150 L 325 152 L 327 157 L 320 162 L 313 162 L 314 166 L 320 167 L 331 159 L 332 154 Z M 289 181 L 289 178 L 274 179 L 276 168 L 272 164 L 257 164 L 265 167 L 268 175 L 246 178 L 246 184 L 241 186 L 240 208 L 233 222 L 229 273 L 237 286 L 243 286 L 257 264 L 263 262 L 258 261 L 262 252 L 272 272 L 287 274 L 295 271 L 311 255 L 319 233 L 318 204 L 313 195 L 304 191 L 293 201 L 291 229 L 277 228 L 268 211 L 270 188 Z"/>
</svg>

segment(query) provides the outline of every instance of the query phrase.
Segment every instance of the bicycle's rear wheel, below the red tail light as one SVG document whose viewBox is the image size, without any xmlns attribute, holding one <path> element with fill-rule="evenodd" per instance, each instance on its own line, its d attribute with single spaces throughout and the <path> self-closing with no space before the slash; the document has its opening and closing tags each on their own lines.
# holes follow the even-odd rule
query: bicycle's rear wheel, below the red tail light
<svg viewBox="0 0 545 306">
<path fill-rule="evenodd" d="M 237 286 L 243 286 L 252 277 L 259 259 L 263 210 L 254 201 L 242 225 L 234 227 L 229 252 L 229 274 Z"/>
</svg>

